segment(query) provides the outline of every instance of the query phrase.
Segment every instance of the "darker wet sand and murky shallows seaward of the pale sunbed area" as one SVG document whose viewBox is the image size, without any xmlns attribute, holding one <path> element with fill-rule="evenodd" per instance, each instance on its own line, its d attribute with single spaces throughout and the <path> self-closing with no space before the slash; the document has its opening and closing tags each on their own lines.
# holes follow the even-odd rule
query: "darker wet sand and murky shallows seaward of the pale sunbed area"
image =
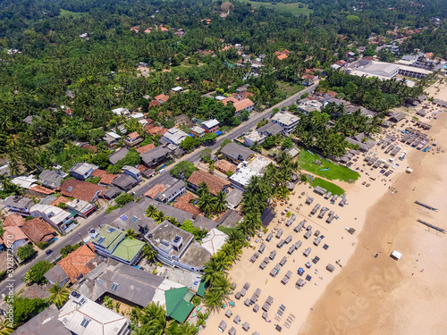
<svg viewBox="0 0 447 335">
<path fill-rule="evenodd" d="M 432 124 L 429 135 L 447 145 L 447 114 Z M 447 229 L 447 161 L 436 151 L 407 150 L 414 172 L 397 176 L 392 187 L 398 192 L 387 192 L 368 210 L 355 254 L 327 286 L 299 334 L 446 333 L 447 236 L 417 219 Z M 403 254 L 400 261 L 389 256 L 394 249 Z"/>
</svg>

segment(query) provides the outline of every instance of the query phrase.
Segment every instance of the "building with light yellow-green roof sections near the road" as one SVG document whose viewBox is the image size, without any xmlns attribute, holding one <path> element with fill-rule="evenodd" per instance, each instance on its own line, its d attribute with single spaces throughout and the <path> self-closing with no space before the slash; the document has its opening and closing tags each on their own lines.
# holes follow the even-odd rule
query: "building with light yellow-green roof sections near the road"
<svg viewBox="0 0 447 335">
<path fill-rule="evenodd" d="M 126 238 L 125 231 L 108 224 L 101 230 L 91 230 L 90 237 L 97 254 L 129 265 L 134 265 L 141 259 L 145 245 L 138 239 Z"/>
</svg>

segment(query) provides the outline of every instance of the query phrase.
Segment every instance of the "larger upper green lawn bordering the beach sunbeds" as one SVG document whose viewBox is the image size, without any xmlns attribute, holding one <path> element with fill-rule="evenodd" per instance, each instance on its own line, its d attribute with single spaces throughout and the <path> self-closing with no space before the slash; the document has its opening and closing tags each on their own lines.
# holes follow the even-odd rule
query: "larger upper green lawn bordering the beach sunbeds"
<svg viewBox="0 0 447 335">
<path fill-rule="evenodd" d="M 321 165 L 313 163 L 316 160 L 319 160 L 321 162 Z M 358 180 L 358 177 L 360 177 L 360 174 L 358 172 L 353 172 L 345 166 L 336 165 L 334 163 L 326 161 L 323 158 L 319 158 L 315 154 L 310 154 L 306 150 L 302 150 L 299 153 L 299 168 L 316 174 L 320 177 L 324 177 L 326 180 L 342 180 L 348 182 L 349 180 Z"/>
</svg>

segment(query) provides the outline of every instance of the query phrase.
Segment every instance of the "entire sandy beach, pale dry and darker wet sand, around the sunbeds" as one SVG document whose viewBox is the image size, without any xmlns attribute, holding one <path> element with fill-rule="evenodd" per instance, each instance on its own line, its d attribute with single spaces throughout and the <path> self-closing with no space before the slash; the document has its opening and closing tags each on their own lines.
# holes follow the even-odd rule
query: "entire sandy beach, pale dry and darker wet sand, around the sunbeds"
<svg viewBox="0 0 447 335">
<path fill-rule="evenodd" d="M 430 109 L 430 112 L 434 110 L 435 108 Z M 429 122 L 433 128 L 426 132 L 438 141 L 438 147 L 443 148 L 447 144 L 447 131 L 444 131 L 447 115 L 439 114 L 437 120 L 429 115 L 422 121 Z M 394 129 L 386 130 L 386 134 L 397 135 L 408 126 L 412 126 L 412 123 L 402 121 Z M 384 136 L 385 134 L 378 135 L 376 139 Z M 399 166 L 388 169 L 392 171 L 388 177 L 380 173 L 380 168 L 372 169 L 365 165 L 364 155 L 355 157 L 351 169 L 361 172 L 360 179 L 354 184 L 334 181 L 346 191 L 349 205 L 344 207 L 338 205 L 340 198 L 335 204 L 331 204 L 329 200 L 313 193 L 308 185 L 297 185 L 289 203 L 276 207 L 277 217 L 269 225 L 268 231 L 283 229 L 281 239 L 291 235 L 291 244 L 278 248 L 276 244 L 279 239 L 265 242 L 257 238 L 257 241 L 252 241 L 254 248 L 244 249 L 240 261 L 230 271 L 232 281 L 237 283 L 234 293 L 245 282 L 250 283 L 246 296 L 237 300 L 232 294 L 231 299 L 235 306 L 225 306 L 212 314 L 202 333 L 215 334 L 222 321 L 228 325 L 223 333 L 228 333 L 232 327 L 237 333 L 245 332 L 241 328 L 243 322 L 249 322 L 249 333 L 257 331 L 259 334 L 275 333 L 276 324 L 283 328 L 282 333 L 294 335 L 382 334 L 385 331 L 392 334 L 441 333 L 439 331 L 442 328 L 435 320 L 440 322 L 441 315 L 447 309 L 447 303 L 443 302 L 447 289 L 441 287 L 441 278 L 445 272 L 443 269 L 447 269 L 447 261 L 443 260 L 446 252 L 441 247 L 443 234 L 428 230 L 416 220 L 419 218 L 443 226 L 443 210 L 436 213 L 413 203 L 417 199 L 437 208 L 444 207 L 444 154 L 441 150 L 437 152 L 435 147 L 426 153 L 408 146 L 401 147 L 408 155 L 403 161 L 394 157 Z M 377 156 L 378 159 L 390 157 L 378 147 L 374 147 L 367 155 Z M 407 166 L 414 172 L 405 173 Z M 301 196 L 302 192 L 305 192 L 304 196 Z M 308 195 L 315 199 L 311 205 L 305 205 Z M 339 219 L 327 224 L 325 219 L 318 219 L 316 215 L 309 217 L 308 214 L 316 204 L 333 210 Z M 281 221 L 284 218 L 281 212 L 286 207 L 297 216 L 290 227 L 285 227 Z M 320 230 L 325 235 L 318 247 L 313 245 L 314 235 L 304 239 L 306 230 L 298 233 L 293 231 L 302 220 L 307 220 L 306 226 L 310 224 L 313 232 Z M 356 232 L 350 235 L 347 228 L 354 228 Z M 289 247 L 298 240 L 302 241 L 301 247 L 289 255 Z M 266 251 L 251 263 L 249 257 L 263 242 L 266 243 Z M 325 244 L 329 246 L 327 250 L 323 248 Z M 303 255 L 307 247 L 312 248 L 308 257 Z M 403 254 L 400 261 L 390 257 L 394 249 Z M 276 250 L 277 255 L 264 270 L 260 270 L 259 264 L 272 250 Z M 316 255 L 320 260 L 313 264 L 312 259 Z M 283 256 L 287 257 L 287 263 L 281 267 L 275 278 L 270 276 L 269 272 Z M 305 266 L 307 262 L 312 265 L 310 269 Z M 333 264 L 335 271 L 326 271 L 327 264 Z M 297 273 L 299 267 L 306 270 L 302 277 Z M 281 281 L 288 271 L 292 272 L 291 280 L 283 285 Z M 303 288 L 297 289 L 295 283 L 299 278 L 305 279 L 308 274 L 312 279 L 306 281 Z M 259 307 L 264 305 L 267 297 L 274 297 L 267 318 L 271 322 L 262 318 L 264 311 L 261 308 L 255 313 L 254 304 L 244 305 L 244 300 L 250 298 L 256 289 L 261 289 L 256 302 Z M 433 308 L 430 306 L 434 303 L 440 308 L 432 314 Z M 274 316 L 280 304 L 286 308 L 282 318 L 278 320 Z M 227 318 L 224 314 L 229 308 L 232 316 Z M 284 321 L 290 314 L 294 316 L 294 320 L 290 328 L 286 328 Z M 236 315 L 240 316 L 239 324 L 233 322 Z M 412 322 L 413 320 L 417 322 Z M 422 331 L 422 327 L 427 330 L 423 322 L 426 320 L 431 320 L 430 327 L 433 331 Z M 413 323 L 417 323 L 420 328 L 414 327 Z"/>
</svg>

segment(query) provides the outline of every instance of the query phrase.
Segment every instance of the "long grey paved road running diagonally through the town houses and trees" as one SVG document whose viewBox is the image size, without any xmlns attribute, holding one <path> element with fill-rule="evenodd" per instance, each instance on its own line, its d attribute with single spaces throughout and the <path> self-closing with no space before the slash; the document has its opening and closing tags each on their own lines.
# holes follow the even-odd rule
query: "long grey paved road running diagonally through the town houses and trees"
<svg viewBox="0 0 447 335">
<path fill-rule="evenodd" d="M 232 131 L 228 132 L 227 134 L 219 137 L 215 141 L 215 144 L 213 146 L 210 146 L 209 148 L 211 150 L 215 151 L 221 146 L 222 142 L 226 138 L 230 138 L 230 139 L 238 138 L 245 131 L 254 128 L 258 121 L 260 121 L 264 118 L 270 118 L 272 116 L 272 110 L 275 107 L 282 108 L 282 107 L 288 107 L 288 106 L 292 105 L 293 103 L 295 103 L 297 101 L 297 99 L 299 99 L 299 96 L 301 96 L 305 93 L 313 92 L 316 88 L 316 85 L 317 85 L 317 83 L 309 86 L 308 88 L 305 88 L 305 89 L 299 91 L 295 95 L 288 97 L 287 99 L 283 100 L 281 103 L 274 105 L 271 108 L 266 109 L 262 113 L 251 113 L 251 117 L 249 118 L 248 121 L 245 121 L 239 127 L 235 128 Z M 200 158 L 201 151 L 202 151 L 202 149 L 198 149 L 189 155 L 185 155 L 185 156 L 181 157 L 181 159 L 178 160 L 176 163 L 181 162 L 183 160 L 186 160 L 191 163 L 198 162 L 198 160 Z M 169 170 L 171 170 L 174 165 L 175 164 L 169 165 L 165 169 L 166 173 L 169 172 Z M 142 196 L 144 193 L 146 193 L 148 191 L 148 189 L 153 188 L 157 182 L 158 182 L 158 175 L 151 178 L 150 180 L 147 180 L 143 184 L 139 185 L 139 187 L 134 188 L 132 191 L 134 191 L 137 195 Z M 14 280 L 15 280 L 15 289 L 14 290 L 17 291 L 18 289 L 20 289 L 21 285 L 23 284 L 23 282 L 21 281 L 22 278 L 25 276 L 25 273 L 30 270 L 30 267 L 33 264 L 36 264 L 38 261 L 44 261 L 44 260 L 49 261 L 49 262 L 55 261 L 55 259 L 59 257 L 60 251 L 65 245 L 67 245 L 67 244 L 75 245 L 80 242 L 81 238 L 82 239 L 87 238 L 89 236 L 89 230 L 91 230 L 92 228 L 97 228 L 99 226 L 99 224 L 105 218 L 105 215 L 106 215 L 105 208 L 97 211 L 97 213 L 95 213 L 95 214 L 92 214 L 91 216 L 89 216 L 89 219 L 87 221 L 83 222 L 80 225 L 80 227 L 78 227 L 76 230 L 72 231 L 72 233 L 70 233 L 62 238 L 59 238 L 50 247 L 54 250 L 51 255 L 46 255 L 45 252 L 40 252 L 39 255 L 32 262 L 30 262 L 29 264 L 22 265 L 21 267 L 17 268 L 14 271 Z M 2 296 L 4 294 L 8 293 L 8 290 L 6 288 L 6 285 L 8 285 L 8 284 L 9 284 L 9 282 L 6 282 L 6 281 L 0 283 L 0 294 Z"/>
</svg>

